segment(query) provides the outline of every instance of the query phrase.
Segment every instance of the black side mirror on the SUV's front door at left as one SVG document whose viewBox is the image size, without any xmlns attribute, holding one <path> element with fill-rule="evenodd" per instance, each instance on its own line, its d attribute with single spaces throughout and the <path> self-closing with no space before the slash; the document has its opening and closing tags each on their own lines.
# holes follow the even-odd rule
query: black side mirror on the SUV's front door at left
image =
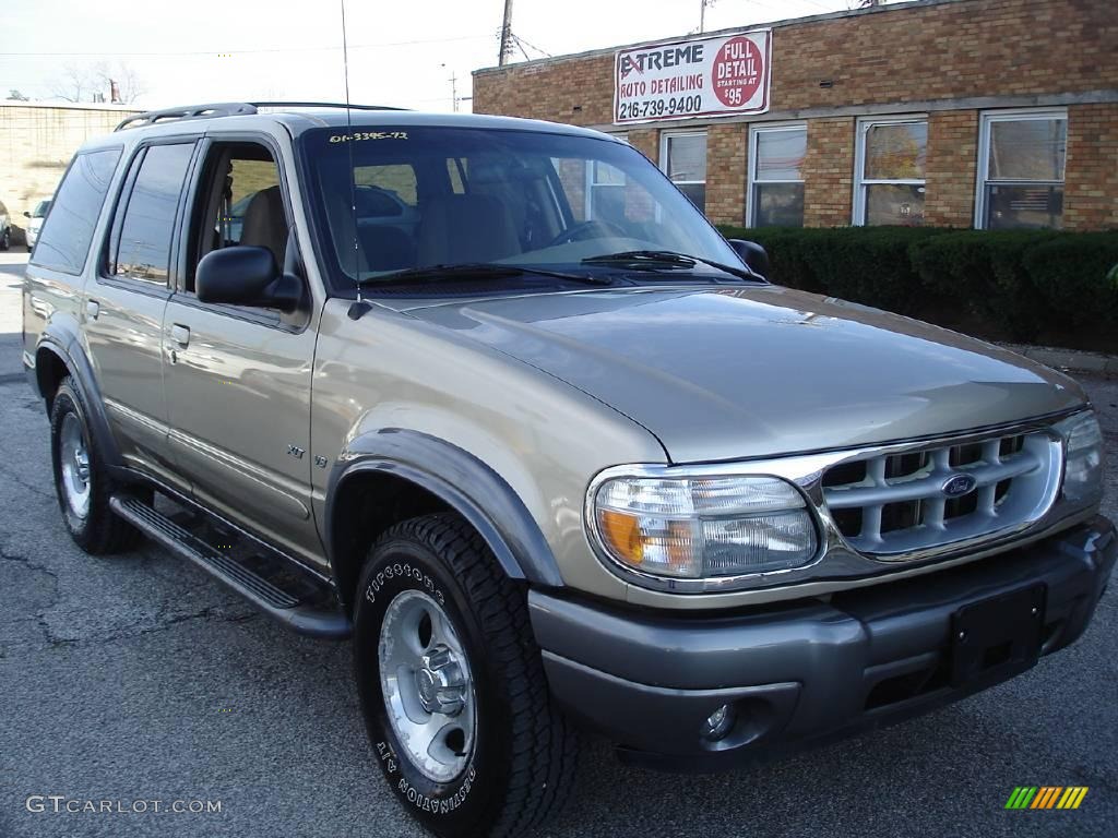
<svg viewBox="0 0 1118 838">
<path fill-rule="evenodd" d="M 293 312 L 302 298 L 302 283 L 276 266 L 266 247 L 224 247 L 198 263 L 195 294 L 202 303 L 225 303 Z"/>
</svg>

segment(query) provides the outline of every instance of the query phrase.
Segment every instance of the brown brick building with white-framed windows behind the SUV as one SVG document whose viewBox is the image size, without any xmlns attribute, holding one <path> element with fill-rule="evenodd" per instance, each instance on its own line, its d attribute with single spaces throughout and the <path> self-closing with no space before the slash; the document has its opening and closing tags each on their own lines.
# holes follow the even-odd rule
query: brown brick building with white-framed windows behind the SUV
<svg viewBox="0 0 1118 838">
<path fill-rule="evenodd" d="M 1118 228 L 1116 0 L 917 0 L 741 32 L 766 29 L 760 112 L 626 124 L 615 49 L 476 70 L 474 111 L 623 135 L 719 223 Z"/>
</svg>

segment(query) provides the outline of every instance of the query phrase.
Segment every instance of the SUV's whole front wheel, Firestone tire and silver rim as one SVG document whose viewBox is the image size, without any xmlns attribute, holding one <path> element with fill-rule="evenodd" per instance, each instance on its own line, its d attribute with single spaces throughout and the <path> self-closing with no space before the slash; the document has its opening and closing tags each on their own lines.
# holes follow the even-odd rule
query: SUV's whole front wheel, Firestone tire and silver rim
<svg viewBox="0 0 1118 838">
<path fill-rule="evenodd" d="M 442 838 L 521 836 L 569 790 L 577 735 L 551 702 L 522 589 L 452 514 L 372 547 L 358 588 L 358 691 L 381 771 Z"/>
</svg>

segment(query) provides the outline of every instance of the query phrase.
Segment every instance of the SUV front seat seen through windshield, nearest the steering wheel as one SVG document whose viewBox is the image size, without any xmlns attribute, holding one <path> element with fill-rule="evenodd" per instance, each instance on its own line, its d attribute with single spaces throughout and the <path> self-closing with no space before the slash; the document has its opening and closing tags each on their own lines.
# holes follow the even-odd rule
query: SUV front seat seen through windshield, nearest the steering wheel
<svg viewBox="0 0 1118 838">
<path fill-rule="evenodd" d="M 485 194 L 447 194 L 427 201 L 416 244 L 420 265 L 493 261 L 520 253 L 508 208 Z"/>
</svg>

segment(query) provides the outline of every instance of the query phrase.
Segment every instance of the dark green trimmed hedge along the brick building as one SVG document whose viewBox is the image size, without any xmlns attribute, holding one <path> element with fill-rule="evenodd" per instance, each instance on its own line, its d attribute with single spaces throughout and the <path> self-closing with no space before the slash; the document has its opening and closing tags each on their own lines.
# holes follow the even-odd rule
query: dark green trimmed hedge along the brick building
<svg viewBox="0 0 1118 838">
<path fill-rule="evenodd" d="M 988 340 L 1118 351 L 1118 231 L 720 228 L 780 285 Z"/>
</svg>

